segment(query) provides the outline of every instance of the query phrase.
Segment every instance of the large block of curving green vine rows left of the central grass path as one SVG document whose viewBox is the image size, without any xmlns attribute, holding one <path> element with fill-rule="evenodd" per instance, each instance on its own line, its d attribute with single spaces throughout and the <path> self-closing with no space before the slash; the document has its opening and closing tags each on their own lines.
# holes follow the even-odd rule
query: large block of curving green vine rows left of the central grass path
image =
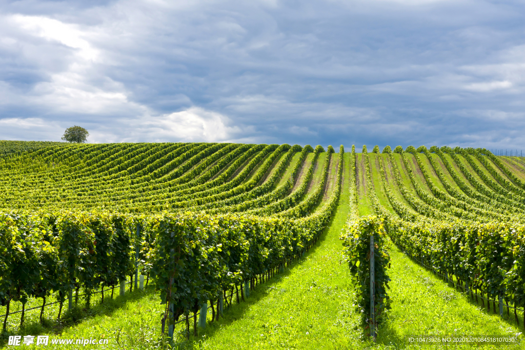
<svg viewBox="0 0 525 350">
<path fill-rule="evenodd" d="M 178 290 L 171 320 L 301 256 L 337 205 L 344 154 L 287 144 L 12 146 L 0 161 L 5 312 L 53 294 L 60 316 L 72 291 L 113 289 L 139 269 L 166 290 L 163 301 Z"/>
</svg>

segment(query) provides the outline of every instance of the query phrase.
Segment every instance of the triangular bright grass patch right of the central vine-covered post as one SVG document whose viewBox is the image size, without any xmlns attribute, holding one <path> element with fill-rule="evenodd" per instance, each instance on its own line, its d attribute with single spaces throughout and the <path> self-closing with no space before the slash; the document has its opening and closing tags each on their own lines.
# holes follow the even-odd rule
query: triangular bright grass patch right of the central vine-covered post
<svg viewBox="0 0 525 350">
<path fill-rule="evenodd" d="M 392 310 L 378 343 L 393 348 L 417 348 L 404 344 L 409 335 L 505 335 L 520 333 L 512 323 L 488 314 L 465 294 L 451 288 L 391 245 L 389 275 Z M 424 348 L 433 348 L 425 346 Z M 435 347 L 438 348 L 438 347 Z M 496 345 L 450 348 L 500 348 Z M 511 347 L 505 348 L 523 348 Z"/>
</svg>

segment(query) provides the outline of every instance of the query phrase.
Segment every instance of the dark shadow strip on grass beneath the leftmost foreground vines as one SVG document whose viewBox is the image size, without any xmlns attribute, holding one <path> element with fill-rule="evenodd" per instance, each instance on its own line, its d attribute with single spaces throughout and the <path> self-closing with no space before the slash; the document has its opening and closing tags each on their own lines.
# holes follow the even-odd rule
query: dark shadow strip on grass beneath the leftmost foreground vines
<svg viewBox="0 0 525 350">
<path fill-rule="evenodd" d="M 127 291 L 124 296 L 116 296 L 113 299 L 109 297 L 104 298 L 104 303 L 99 302 L 95 305 L 92 305 L 89 309 L 78 305 L 73 307 L 71 310 L 67 310 L 66 302 L 64 303 L 64 308 L 66 310 L 62 309 L 62 316 L 60 317 L 60 320 L 43 317 L 42 324 L 40 324 L 38 321 L 26 321 L 24 327 L 8 327 L 5 332 L 0 333 L 0 348 L 3 348 L 7 345 L 10 335 L 36 336 L 50 333 L 60 334 L 65 328 L 80 324 L 83 321 L 91 319 L 92 317 L 99 315 L 111 316 L 113 312 L 125 307 L 128 302 L 137 301 L 151 293 L 155 293 L 155 287 L 153 283 L 149 283 L 149 285 L 145 286 L 143 291 L 138 289 L 132 292 Z M 40 312 L 39 309 L 33 311 L 38 311 L 38 313 Z M 15 315 L 19 317 L 20 314 Z M 9 317 L 15 317 L 15 315 L 10 315 Z"/>
</svg>

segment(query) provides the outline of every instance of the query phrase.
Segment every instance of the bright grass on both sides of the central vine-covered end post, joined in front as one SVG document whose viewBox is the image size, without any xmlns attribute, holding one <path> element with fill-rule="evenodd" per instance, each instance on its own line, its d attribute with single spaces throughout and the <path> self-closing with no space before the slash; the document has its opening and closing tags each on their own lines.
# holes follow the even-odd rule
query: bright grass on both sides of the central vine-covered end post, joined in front
<svg viewBox="0 0 525 350">
<path fill-rule="evenodd" d="M 417 348 L 405 344 L 408 335 L 519 332 L 499 316 L 481 311 L 464 294 L 391 246 L 392 310 L 379 330 L 377 344 L 367 341 L 360 314 L 353 307 L 355 295 L 348 267 L 340 263 L 342 246 L 338 235 L 348 214 L 345 200 L 341 197 L 326 236 L 306 257 L 257 291 L 248 303 L 235 305 L 231 313 L 199 334 L 201 338 L 188 347 L 401 349 Z"/>
</svg>

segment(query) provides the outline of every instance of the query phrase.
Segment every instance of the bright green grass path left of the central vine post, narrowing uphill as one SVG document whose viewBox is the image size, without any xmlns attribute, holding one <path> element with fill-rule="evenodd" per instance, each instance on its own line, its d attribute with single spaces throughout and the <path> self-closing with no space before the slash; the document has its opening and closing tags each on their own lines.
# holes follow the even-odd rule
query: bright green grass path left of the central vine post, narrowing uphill
<svg viewBox="0 0 525 350">
<path fill-rule="evenodd" d="M 346 163 L 346 162 L 345 162 Z M 346 164 L 345 164 L 346 165 Z M 342 349 L 361 343 L 359 315 L 339 234 L 349 211 L 349 167 L 330 227 L 291 269 L 262 284 L 246 303 L 207 326 L 194 345 L 203 349 Z M 355 329 L 354 329 L 355 328 Z"/>
</svg>

